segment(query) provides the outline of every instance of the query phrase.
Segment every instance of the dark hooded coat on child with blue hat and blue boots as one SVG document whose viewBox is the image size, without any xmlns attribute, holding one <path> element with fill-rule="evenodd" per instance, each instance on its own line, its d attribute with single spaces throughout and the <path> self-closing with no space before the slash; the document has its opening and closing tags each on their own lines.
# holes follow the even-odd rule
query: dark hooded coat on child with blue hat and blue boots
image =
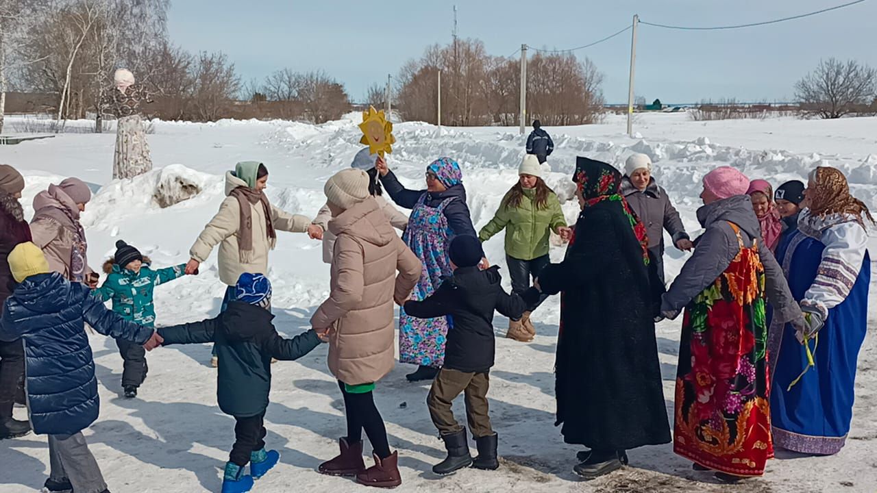
<svg viewBox="0 0 877 493">
<path fill-rule="evenodd" d="M 236 418 L 249 418 L 265 411 L 271 391 L 271 358 L 297 360 L 319 346 L 314 331 L 293 339 L 277 333 L 274 315 L 253 304 L 232 301 L 217 318 L 191 324 L 162 327 L 162 346 L 215 342 L 219 371 L 219 409 Z"/>
</svg>

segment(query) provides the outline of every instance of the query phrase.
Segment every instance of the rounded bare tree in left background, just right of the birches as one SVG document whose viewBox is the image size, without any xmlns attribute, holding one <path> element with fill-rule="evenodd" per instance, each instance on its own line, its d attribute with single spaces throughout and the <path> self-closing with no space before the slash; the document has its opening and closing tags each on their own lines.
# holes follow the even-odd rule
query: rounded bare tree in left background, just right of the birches
<svg viewBox="0 0 877 493">
<path fill-rule="evenodd" d="M 220 118 L 220 111 L 240 89 L 234 64 L 221 52 L 198 54 L 192 68 L 191 102 L 195 117 L 201 121 Z"/>
</svg>

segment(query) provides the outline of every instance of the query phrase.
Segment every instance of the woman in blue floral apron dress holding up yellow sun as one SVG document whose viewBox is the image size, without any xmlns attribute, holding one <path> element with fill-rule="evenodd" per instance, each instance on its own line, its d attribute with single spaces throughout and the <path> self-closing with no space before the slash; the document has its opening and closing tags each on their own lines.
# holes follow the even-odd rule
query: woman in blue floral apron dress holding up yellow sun
<svg viewBox="0 0 877 493">
<path fill-rule="evenodd" d="M 463 173 L 451 158 L 439 158 L 426 167 L 426 189 L 403 187 L 396 175 L 378 159 L 375 168 L 393 202 L 411 209 L 403 241 L 423 263 L 420 281 L 411 299 L 421 301 L 439 288 L 442 276 L 451 275 L 448 247 L 458 235 L 477 236 L 466 204 Z M 410 382 L 432 380 L 445 362 L 448 318 L 413 318 L 399 309 L 399 361 L 417 365 L 406 375 Z"/>
</svg>

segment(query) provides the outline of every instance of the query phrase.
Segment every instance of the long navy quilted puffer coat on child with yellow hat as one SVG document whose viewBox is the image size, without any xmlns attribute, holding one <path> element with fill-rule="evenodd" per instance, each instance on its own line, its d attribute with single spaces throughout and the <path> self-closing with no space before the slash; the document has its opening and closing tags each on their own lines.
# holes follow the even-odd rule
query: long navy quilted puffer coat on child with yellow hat
<svg viewBox="0 0 877 493">
<path fill-rule="evenodd" d="M 27 409 L 33 431 L 72 434 L 100 407 L 87 322 L 97 332 L 144 344 L 153 329 L 128 322 L 58 273 L 32 275 L 6 300 L 0 340 L 25 341 Z"/>
</svg>

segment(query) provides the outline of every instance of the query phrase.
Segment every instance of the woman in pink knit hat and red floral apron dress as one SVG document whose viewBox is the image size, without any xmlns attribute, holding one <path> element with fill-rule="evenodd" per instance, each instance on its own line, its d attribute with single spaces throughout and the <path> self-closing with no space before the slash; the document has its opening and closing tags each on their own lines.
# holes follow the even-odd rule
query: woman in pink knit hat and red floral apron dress
<svg viewBox="0 0 877 493">
<path fill-rule="evenodd" d="M 697 219 L 706 232 L 661 303 L 685 308 L 676 368 L 674 451 L 695 470 L 736 482 L 763 475 L 770 435 L 765 304 L 774 318 L 803 325 L 780 266 L 760 239 L 749 179 L 717 168 L 703 177 Z"/>
</svg>

